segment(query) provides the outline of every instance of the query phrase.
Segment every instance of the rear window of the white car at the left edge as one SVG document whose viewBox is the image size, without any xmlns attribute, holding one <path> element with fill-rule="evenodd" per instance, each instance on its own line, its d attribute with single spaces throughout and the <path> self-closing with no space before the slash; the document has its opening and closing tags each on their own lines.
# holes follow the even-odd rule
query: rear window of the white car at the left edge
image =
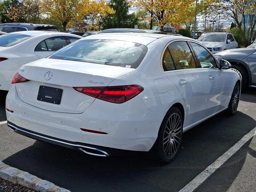
<svg viewBox="0 0 256 192">
<path fill-rule="evenodd" d="M 0 46 L 10 47 L 16 45 L 24 40 L 31 38 L 30 35 L 25 34 L 4 34 L 0 36 Z"/>
</svg>

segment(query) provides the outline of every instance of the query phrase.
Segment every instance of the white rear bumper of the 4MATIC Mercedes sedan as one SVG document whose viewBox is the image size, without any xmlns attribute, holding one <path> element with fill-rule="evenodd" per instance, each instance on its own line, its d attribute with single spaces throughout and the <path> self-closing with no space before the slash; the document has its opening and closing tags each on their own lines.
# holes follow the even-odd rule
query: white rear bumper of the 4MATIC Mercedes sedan
<svg viewBox="0 0 256 192">
<path fill-rule="evenodd" d="M 100 149 L 107 147 L 149 151 L 156 141 L 164 118 L 162 113 L 149 111 L 138 97 L 124 104 L 96 100 L 81 114 L 52 112 L 20 100 L 15 84 L 6 97 L 6 108 L 14 111 L 11 113 L 6 110 L 6 117 L 9 124 L 16 127 L 17 133 L 25 136 L 30 134 L 28 137 L 32 137 L 33 133 L 36 134 L 36 139 L 47 139 L 46 142 L 64 141 L 68 143 L 67 147 L 76 149 L 78 146 L 70 147 L 70 144 L 101 146 Z M 81 128 L 108 134 L 85 132 Z M 45 138 L 38 138 L 39 136 Z M 49 141 L 48 138 L 54 138 L 54 141 Z"/>
</svg>

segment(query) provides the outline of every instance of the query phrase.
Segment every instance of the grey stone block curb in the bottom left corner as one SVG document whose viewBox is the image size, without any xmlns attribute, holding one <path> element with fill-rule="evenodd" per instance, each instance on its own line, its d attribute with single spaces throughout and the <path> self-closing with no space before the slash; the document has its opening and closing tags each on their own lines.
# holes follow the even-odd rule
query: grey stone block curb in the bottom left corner
<svg viewBox="0 0 256 192">
<path fill-rule="evenodd" d="M 39 192 L 70 192 L 70 190 L 56 186 L 55 184 L 42 180 L 28 172 L 10 167 L 0 161 L 0 178 L 13 183 L 32 188 Z"/>
</svg>

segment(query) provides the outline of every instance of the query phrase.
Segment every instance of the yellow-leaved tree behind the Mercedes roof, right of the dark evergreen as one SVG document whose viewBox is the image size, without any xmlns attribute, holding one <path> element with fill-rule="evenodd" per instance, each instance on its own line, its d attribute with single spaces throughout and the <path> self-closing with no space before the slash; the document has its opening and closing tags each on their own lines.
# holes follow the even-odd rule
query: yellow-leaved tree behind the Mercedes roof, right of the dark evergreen
<svg viewBox="0 0 256 192">
<path fill-rule="evenodd" d="M 152 12 L 161 31 L 166 24 L 192 21 L 194 16 L 194 0 L 136 0 L 135 4 Z"/>
</svg>

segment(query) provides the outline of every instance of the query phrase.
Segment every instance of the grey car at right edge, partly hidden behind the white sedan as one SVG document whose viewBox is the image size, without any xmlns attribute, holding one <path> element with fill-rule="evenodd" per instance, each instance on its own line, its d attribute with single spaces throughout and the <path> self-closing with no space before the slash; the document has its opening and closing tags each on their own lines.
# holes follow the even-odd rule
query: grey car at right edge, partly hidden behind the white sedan
<svg viewBox="0 0 256 192">
<path fill-rule="evenodd" d="M 225 59 L 231 63 L 231 69 L 242 79 L 242 88 L 256 88 L 256 48 L 239 48 L 218 52 L 218 60 Z"/>
</svg>

